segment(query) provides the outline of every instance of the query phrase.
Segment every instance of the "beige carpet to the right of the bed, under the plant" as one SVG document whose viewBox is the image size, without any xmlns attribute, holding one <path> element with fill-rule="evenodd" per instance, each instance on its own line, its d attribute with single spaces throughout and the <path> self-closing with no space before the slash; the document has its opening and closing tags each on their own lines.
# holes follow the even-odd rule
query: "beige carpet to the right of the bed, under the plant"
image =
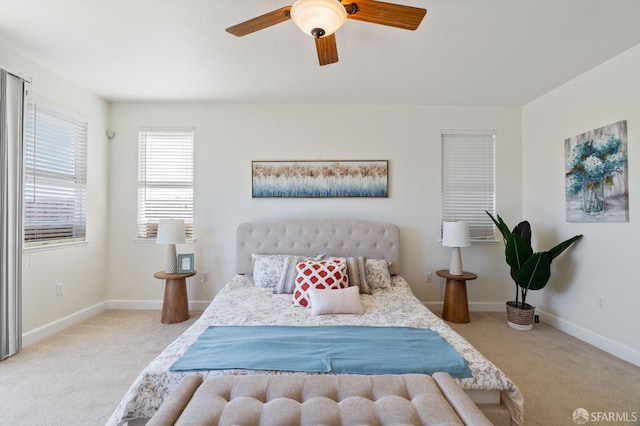
<svg viewBox="0 0 640 426">
<path fill-rule="evenodd" d="M 575 425 L 578 408 L 619 419 L 590 425 L 640 425 L 640 367 L 546 324 L 514 330 L 505 313 L 472 312 L 470 323 L 449 325 L 518 386 L 526 426 Z"/>
</svg>

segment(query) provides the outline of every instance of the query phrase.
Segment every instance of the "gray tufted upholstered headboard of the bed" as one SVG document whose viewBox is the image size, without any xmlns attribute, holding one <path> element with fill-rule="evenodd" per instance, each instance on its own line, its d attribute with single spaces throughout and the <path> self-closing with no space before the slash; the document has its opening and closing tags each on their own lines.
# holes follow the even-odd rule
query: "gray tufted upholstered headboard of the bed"
<svg viewBox="0 0 640 426">
<path fill-rule="evenodd" d="M 242 223 L 236 239 L 236 272 L 253 271 L 251 254 L 366 256 L 393 262 L 398 273 L 400 229 L 397 225 L 355 219 L 284 219 Z"/>
</svg>

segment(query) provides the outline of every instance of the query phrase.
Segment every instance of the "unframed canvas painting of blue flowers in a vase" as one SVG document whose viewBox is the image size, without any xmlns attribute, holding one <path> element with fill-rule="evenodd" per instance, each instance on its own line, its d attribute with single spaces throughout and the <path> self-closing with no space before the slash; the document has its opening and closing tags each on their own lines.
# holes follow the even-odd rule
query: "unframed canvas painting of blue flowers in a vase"
<svg viewBox="0 0 640 426">
<path fill-rule="evenodd" d="M 627 121 L 564 141 L 569 222 L 628 222 Z"/>
</svg>

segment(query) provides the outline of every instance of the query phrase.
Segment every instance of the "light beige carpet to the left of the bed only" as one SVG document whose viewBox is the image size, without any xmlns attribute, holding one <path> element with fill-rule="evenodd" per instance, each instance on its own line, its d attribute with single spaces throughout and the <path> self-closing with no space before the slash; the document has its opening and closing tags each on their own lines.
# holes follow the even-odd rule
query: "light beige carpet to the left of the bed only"
<svg viewBox="0 0 640 426">
<path fill-rule="evenodd" d="M 0 425 L 104 425 L 144 366 L 199 317 L 108 310 L 0 362 Z"/>
</svg>

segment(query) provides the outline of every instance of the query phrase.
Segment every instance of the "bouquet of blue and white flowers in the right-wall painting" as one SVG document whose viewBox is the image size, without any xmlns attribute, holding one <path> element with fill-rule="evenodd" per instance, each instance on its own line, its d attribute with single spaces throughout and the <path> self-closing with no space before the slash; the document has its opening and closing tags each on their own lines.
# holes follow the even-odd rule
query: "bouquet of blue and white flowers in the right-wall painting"
<svg viewBox="0 0 640 426">
<path fill-rule="evenodd" d="M 577 194 L 594 184 L 611 184 L 613 175 L 621 173 L 626 165 L 623 148 L 622 140 L 612 135 L 576 145 L 571 150 L 566 175 L 571 193 Z"/>
</svg>

